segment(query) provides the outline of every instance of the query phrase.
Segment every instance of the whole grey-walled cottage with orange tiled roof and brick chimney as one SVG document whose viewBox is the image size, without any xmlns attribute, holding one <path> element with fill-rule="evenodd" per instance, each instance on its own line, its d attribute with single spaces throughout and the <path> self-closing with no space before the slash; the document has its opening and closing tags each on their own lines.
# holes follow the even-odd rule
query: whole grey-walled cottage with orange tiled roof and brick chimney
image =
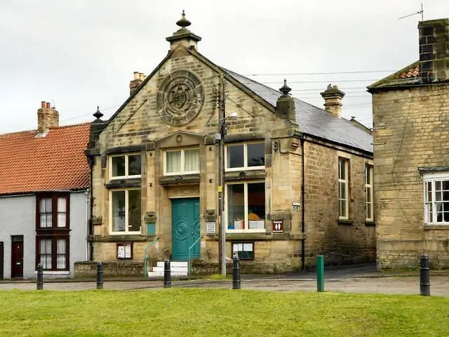
<svg viewBox="0 0 449 337">
<path fill-rule="evenodd" d="M 0 135 L 0 279 L 74 275 L 88 259 L 89 124 L 58 126 L 42 102 L 38 128 Z"/>
</svg>

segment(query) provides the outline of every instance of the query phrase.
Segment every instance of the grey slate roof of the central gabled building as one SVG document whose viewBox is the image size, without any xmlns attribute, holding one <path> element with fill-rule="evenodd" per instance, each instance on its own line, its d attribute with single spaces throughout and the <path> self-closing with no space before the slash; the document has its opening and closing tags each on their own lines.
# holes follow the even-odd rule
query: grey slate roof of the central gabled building
<svg viewBox="0 0 449 337">
<path fill-rule="evenodd" d="M 246 86 L 255 95 L 260 96 L 267 103 L 276 107 L 276 100 L 282 95 L 280 91 L 264 86 L 231 70 L 221 69 L 236 81 L 239 81 L 243 86 Z M 347 119 L 336 118 L 326 112 L 326 110 L 305 103 L 297 98 L 293 99 L 295 100 L 298 131 L 341 145 L 348 145 L 366 152 L 373 152 L 373 136 L 370 133 L 354 126 Z"/>
</svg>

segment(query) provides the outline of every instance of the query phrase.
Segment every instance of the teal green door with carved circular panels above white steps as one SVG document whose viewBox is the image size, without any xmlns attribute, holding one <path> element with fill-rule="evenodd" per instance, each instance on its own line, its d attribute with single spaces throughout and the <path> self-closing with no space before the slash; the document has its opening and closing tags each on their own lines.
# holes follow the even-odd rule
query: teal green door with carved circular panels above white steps
<svg viewBox="0 0 449 337">
<path fill-rule="evenodd" d="M 189 247 L 200 237 L 199 198 L 172 199 L 172 244 L 174 261 L 187 261 Z M 200 242 L 196 242 L 191 258 L 200 257 Z"/>
</svg>

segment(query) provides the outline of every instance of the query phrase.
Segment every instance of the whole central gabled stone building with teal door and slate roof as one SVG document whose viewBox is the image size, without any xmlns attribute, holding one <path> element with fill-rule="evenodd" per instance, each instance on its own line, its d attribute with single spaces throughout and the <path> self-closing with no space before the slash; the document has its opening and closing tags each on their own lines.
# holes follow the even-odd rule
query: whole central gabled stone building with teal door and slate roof
<svg viewBox="0 0 449 337">
<path fill-rule="evenodd" d="M 374 260 L 372 136 L 340 117 L 344 93 L 323 91 L 326 111 L 286 82 L 276 91 L 219 67 L 189 24 L 183 15 L 166 58 L 94 121 L 93 258 L 123 269 L 192 258 L 192 272 L 217 272 L 223 221 L 226 260 L 238 253 L 244 272 L 297 270 L 318 254 Z"/>
</svg>

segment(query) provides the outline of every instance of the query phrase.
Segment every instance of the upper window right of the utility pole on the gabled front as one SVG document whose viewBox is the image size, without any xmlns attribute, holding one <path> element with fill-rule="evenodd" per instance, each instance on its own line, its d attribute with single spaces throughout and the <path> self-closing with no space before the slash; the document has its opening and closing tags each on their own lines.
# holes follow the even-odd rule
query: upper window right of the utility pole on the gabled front
<svg viewBox="0 0 449 337">
<path fill-rule="evenodd" d="M 225 161 L 226 171 L 263 169 L 265 166 L 264 143 L 227 145 Z"/>
</svg>

